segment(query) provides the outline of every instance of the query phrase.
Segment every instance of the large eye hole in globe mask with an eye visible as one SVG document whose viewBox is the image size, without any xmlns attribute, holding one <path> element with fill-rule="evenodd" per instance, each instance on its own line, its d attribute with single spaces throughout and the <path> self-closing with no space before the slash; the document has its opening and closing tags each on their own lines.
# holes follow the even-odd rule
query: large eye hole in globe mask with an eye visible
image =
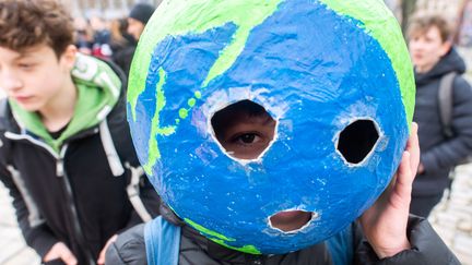
<svg viewBox="0 0 472 265">
<path fill-rule="evenodd" d="M 215 112 L 211 125 L 215 138 L 229 157 L 256 160 L 272 144 L 276 121 L 262 106 L 245 99 Z"/>
</svg>

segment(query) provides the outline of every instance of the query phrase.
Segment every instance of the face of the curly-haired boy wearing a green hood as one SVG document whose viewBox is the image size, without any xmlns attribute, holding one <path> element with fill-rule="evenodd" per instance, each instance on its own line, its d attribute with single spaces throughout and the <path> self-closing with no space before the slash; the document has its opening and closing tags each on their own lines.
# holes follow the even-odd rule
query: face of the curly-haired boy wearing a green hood
<svg viewBox="0 0 472 265">
<path fill-rule="evenodd" d="M 27 111 L 40 111 L 58 99 L 74 62 L 70 46 L 58 59 L 47 45 L 17 52 L 0 47 L 0 88 Z"/>
</svg>

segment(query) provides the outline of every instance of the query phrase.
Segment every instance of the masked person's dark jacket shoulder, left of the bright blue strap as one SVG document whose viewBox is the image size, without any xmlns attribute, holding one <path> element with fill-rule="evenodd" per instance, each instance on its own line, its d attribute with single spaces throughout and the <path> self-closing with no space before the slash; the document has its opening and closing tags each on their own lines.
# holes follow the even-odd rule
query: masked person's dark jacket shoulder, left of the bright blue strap
<svg viewBox="0 0 472 265">
<path fill-rule="evenodd" d="M 144 243 L 144 224 L 134 226 L 118 236 L 117 240 L 107 249 L 106 263 L 116 265 L 148 264 Z"/>
</svg>

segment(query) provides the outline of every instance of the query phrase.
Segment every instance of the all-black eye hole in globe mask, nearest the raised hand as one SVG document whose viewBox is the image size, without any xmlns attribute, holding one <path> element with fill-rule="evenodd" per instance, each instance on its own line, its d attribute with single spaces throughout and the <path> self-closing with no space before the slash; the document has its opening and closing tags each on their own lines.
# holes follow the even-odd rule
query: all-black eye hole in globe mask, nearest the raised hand
<svg viewBox="0 0 472 265">
<path fill-rule="evenodd" d="M 357 165 L 374 150 L 379 140 L 377 124 L 371 120 L 356 120 L 341 131 L 337 149 L 350 164 Z"/>
</svg>

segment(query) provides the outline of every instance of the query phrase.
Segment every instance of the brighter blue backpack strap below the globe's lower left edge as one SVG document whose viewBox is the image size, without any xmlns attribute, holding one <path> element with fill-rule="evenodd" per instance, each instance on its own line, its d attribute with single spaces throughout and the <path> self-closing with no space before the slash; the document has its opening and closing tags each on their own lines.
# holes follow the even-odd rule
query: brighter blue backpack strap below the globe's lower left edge
<svg viewBox="0 0 472 265">
<path fill-rule="evenodd" d="M 149 265 L 178 264 L 180 227 L 158 216 L 144 226 L 144 242 Z"/>
</svg>

